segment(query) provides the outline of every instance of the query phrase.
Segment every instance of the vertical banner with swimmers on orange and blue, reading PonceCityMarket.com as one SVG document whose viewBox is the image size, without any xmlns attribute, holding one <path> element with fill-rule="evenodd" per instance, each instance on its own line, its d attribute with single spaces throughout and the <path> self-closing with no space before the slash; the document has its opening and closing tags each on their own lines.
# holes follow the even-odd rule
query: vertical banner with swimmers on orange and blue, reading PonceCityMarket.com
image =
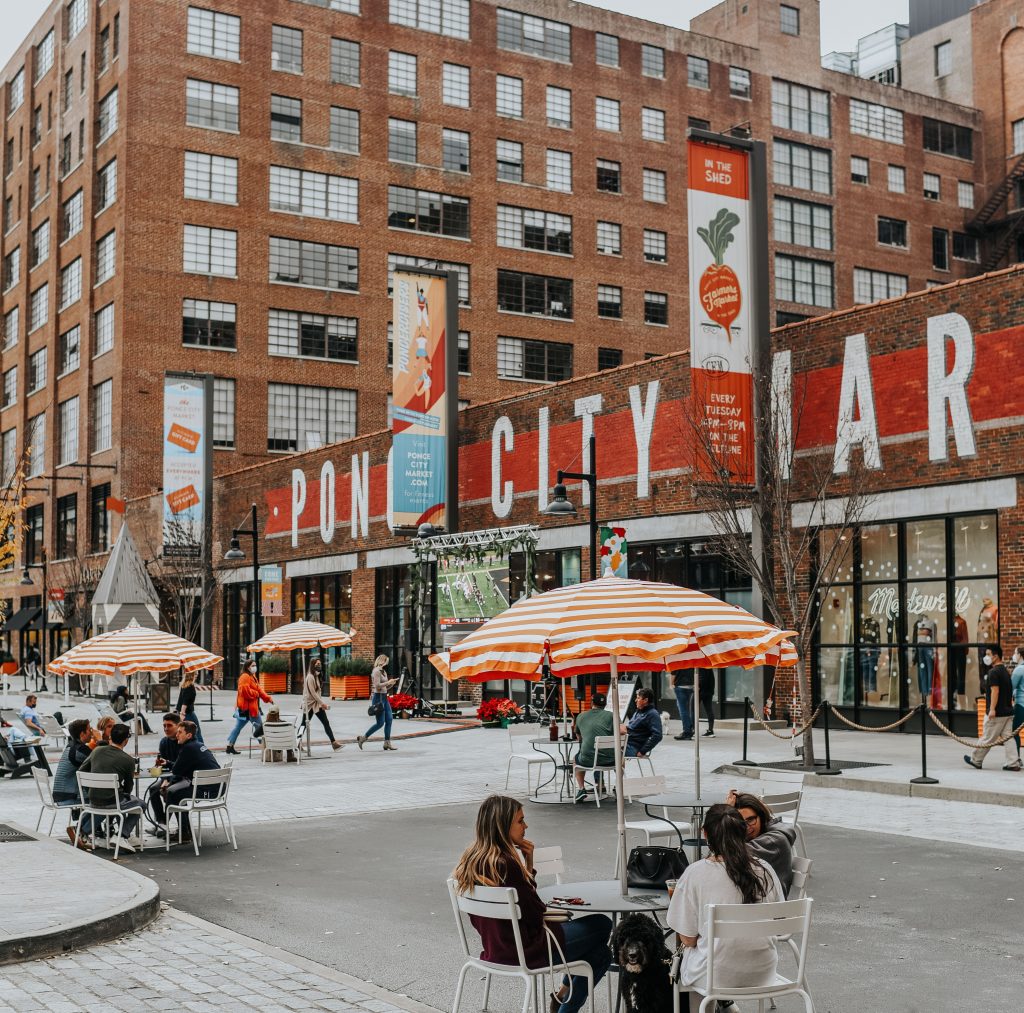
<svg viewBox="0 0 1024 1013">
<path fill-rule="evenodd" d="M 455 530 L 458 310 L 455 276 L 394 272 L 391 372 L 394 526 Z"/>
</svg>

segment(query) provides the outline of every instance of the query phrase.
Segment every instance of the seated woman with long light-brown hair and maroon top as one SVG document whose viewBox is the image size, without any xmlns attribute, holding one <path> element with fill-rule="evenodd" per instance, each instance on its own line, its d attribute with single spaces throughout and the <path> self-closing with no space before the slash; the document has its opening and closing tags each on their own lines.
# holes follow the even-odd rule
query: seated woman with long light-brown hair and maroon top
<svg viewBox="0 0 1024 1013">
<path fill-rule="evenodd" d="M 608 936 L 611 921 L 604 915 L 588 915 L 571 922 L 545 925 L 545 903 L 537 894 L 534 880 L 534 844 L 526 839 L 526 819 L 522 806 L 506 795 L 492 795 L 480 804 L 476 814 L 476 840 L 466 848 L 452 874 L 460 893 L 476 886 L 513 887 L 519 900 L 519 933 L 529 967 L 548 966 L 548 941 L 545 928 L 554 935 L 567 963 L 583 960 L 594 971 L 594 983 L 604 977 L 611 962 Z M 482 960 L 495 964 L 517 964 L 515 938 L 508 922 L 470 916 L 480 933 Z M 554 960 L 558 952 L 552 947 Z M 587 1000 L 587 979 L 573 975 L 563 978 L 552 1011 L 577 1013 Z"/>
</svg>

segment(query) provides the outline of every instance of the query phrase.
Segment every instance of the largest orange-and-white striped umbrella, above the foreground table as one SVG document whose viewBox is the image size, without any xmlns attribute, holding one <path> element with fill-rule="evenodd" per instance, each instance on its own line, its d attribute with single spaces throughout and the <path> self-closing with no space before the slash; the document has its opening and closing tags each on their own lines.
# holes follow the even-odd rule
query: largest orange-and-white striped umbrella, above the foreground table
<svg viewBox="0 0 1024 1013">
<path fill-rule="evenodd" d="M 797 651 L 780 630 L 690 588 L 601 577 L 516 602 L 454 646 L 452 679 L 682 668 L 786 667 Z M 500 674 L 499 674 L 500 673 Z"/>
</svg>

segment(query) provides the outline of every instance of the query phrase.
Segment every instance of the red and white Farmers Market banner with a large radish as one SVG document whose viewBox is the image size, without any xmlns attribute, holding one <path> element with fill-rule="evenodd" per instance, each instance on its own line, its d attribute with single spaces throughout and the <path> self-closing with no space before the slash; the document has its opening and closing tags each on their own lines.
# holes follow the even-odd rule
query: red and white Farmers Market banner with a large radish
<svg viewBox="0 0 1024 1013">
<path fill-rule="evenodd" d="M 709 475 L 724 467 L 735 481 L 754 484 L 750 153 L 693 138 L 686 144 L 690 378 L 694 420 L 709 437 L 696 470 Z"/>
</svg>

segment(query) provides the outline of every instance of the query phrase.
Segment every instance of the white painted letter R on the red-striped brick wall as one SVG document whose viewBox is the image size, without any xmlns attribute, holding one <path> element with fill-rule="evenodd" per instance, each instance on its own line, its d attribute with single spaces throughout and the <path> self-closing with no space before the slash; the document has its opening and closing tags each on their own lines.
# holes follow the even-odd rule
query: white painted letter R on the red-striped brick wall
<svg viewBox="0 0 1024 1013">
<path fill-rule="evenodd" d="M 946 338 L 953 342 L 953 368 L 946 373 Z M 928 457 L 945 461 L 946 405 L 953 426 L 958 457 L 973 457 L 974 423 L 967 399 L 967 385 L 974 372 L 974 335 L 959 313 L 928 318 Z"/>
</svg>

